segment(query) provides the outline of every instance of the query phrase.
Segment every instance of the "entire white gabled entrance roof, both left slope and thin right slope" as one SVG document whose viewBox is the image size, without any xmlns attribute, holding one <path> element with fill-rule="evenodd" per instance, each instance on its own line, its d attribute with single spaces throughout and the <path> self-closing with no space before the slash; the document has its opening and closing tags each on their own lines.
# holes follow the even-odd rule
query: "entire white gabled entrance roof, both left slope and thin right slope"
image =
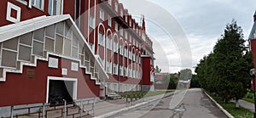
<svg viewBox="0 0 256 118">
<path fill-rule="evenodd" d="M 61 14 L 61 15 L 53 15 L 53 16 L 39 16 L 37 18 L 33 18 L 31 20 L 21 21 L 19 23 L 15 23 L 12 25 L 5 25 L 0 27 L 0 42 L 7 41 L 14 37 L 19 37 L 24 35 L 28 32 L 36 31 L 38 29 L 47 27 L 49 25 L 54 25 L 61 21 L 67 21 L 67 23 L 71 23 L 73 25 L 73 33 L 77 34 L 78 37 L 83 40 L 87 50 L 89 51 L 90 55 L 95 59 L 97 63 L 95 63 L 95 67 L 99 68 L 99 73 L 101 76 L 108 78 L 108 74 L 103 70 L 102 65 L 100 65 L 99 60 L 97 59 L 96 55 L 90 49 L 89 44 L 86 42 L 83 34 L 79 31 L 79 28 L 74 23 L 72 17 L 69 14 Z"/>
</svg>

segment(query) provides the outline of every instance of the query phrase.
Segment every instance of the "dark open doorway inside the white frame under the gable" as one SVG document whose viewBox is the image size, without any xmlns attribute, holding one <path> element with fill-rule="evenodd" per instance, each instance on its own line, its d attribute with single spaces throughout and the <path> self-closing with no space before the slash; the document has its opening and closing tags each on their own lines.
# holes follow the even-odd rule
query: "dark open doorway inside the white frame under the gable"
<svg viewBox="0 0 256 118">
<path fill-rule="evenodd" d="M 73 102 L 73 81 L 50 80 L 49 104 L 64 104 L 63 99 L 67 101 L 67 104 Z"/>
</svg>

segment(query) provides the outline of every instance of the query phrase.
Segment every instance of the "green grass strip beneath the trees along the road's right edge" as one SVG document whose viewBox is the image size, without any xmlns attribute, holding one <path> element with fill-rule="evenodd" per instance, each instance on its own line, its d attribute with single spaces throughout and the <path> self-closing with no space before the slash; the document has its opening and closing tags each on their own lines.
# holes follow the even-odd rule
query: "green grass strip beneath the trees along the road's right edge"
<svg viewBox="0 0 256 118">
<path fill-rule="evenodd" d="M 242 107 L 236 109 L 235 103 L 224 103 L 224 101 L 221 100 L 220 97 L 215 97 L 211 93 L 208 93 L 213 99 L 216 100 L 218 104 L 220 104 L 224 110 L 227 110 L 231 115 L 233 115 L 235 118 L 252 118 L 253 112 L 250 110 L 244 109 Z"/>
</svg>

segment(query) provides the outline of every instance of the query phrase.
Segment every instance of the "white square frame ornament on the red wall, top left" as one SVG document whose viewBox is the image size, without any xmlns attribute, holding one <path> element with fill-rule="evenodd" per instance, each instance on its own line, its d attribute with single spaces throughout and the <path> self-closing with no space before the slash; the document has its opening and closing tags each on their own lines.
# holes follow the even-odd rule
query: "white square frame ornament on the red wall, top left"
<svg viewBox="0 0 256 118">
<path fill-rule="evenodd" d="M 14 9 L 15 11 L 17 11 L 16 17 L 14 18 L 11 16 L 11 11 L 12 9 Z M 20 12 L 21 12 L 21 8 L 19 6 L 16 6 L 13 3 L 7 3 L 7 13 L 6 13 L 6 20 L 9 20 L 11 22 L 17 23 L 20 22 Z"/>
</svg>

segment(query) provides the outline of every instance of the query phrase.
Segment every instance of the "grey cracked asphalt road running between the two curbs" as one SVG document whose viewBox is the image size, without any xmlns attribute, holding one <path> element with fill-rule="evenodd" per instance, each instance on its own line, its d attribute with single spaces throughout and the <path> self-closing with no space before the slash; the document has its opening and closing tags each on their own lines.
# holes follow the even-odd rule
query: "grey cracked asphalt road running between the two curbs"
<svg viewBox="0 0 256 118">
<path fill-rule="evenodd" d="M 194 88 L 173 95 L 166 95 L 160 100 L 120 112 L 109 118 L 225 118 L 226 115 L 212 104 L 212 101 Z"/>
</svg>

